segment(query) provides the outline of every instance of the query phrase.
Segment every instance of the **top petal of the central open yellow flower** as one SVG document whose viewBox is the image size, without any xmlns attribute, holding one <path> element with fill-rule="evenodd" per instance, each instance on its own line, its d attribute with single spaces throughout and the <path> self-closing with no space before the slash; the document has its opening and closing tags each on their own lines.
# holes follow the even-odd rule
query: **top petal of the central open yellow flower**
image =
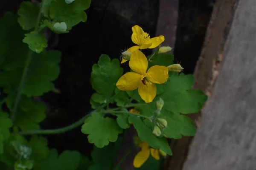
<svg viewBox="0 0 256 170">
<path fill-rule="evenodd" d="M 139 74 L 145 74 L 148 68 L 148 60 L 141 51 L 136 50 L 131 53 L 129 66 L 133 71 Z"/>
</svg>

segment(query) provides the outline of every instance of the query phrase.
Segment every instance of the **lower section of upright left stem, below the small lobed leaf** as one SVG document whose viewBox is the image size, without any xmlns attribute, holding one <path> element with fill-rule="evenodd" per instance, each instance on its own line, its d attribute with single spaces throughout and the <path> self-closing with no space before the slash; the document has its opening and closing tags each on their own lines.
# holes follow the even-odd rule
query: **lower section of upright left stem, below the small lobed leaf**
<svg viewBox="0 0 256 170">
<path fill-rule="evenodd" d="M 15 124 L 15 121 L 16 121 L 17 108 L 18 108 L 18 105 L 19 105 L 19 102 L 20 102 L 20 98 L 21 98 L 21 95 L 22 95 L 22 92 L 23 92 L 24 85 L 25 85 L 26 76 L 27 76 L 27 73 L 28 73 L 28 70 L 29 70 L 29 64 L 30 64 L 30 61 L 32 59 L 32 53 L 33 53 L 33 51 L 29 50 L 28 57 L 27 57 L 26 63 L 25 63 L 25 67 L 23 69 L 23 73 L 22 73 L 22 76 L 21 76 L 21 79 L 20 79 L 20 85 L 18 87 L 17 96 L 15 98 L 14 106 L 12 108 L 11 119 L 12 119 L 13 124 Z"/>
</svg>

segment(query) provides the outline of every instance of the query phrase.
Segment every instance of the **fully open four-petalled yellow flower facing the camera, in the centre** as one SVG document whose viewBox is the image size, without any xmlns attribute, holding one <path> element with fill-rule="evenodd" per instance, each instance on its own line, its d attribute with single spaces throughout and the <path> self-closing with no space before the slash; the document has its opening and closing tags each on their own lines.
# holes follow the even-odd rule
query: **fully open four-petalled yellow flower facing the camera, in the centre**
<svg viewBox="0 0 256 170">
<path fill-rule="evenodd" d="M 148 69 L 148 60 L 145 55 L 136 50 L 131 54 L 129 66 L 134 72 L 122 75 L 116 82 L 116 87 L 122 91 L 133 91 L 139 88 L 141 98 L 146 102 L 152 102 L 157 94 L 154 83 L 163 84 L 168 79 L 168 68 L 154 65 Z"/>
</svg>

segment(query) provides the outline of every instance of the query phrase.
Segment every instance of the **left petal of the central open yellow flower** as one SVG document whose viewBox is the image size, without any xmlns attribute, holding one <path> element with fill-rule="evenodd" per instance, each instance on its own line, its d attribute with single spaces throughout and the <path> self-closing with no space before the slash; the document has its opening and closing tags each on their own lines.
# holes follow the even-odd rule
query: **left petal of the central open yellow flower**
<svg viewBox="0 0 256 170">
<path fill-rule="evenodd" d="M 120 77 L 116 82 L 116 87 L 122 91 L 132 91 L 139 87 L 140 82 L 140 74 L 128 72 Z"/>
</svg>

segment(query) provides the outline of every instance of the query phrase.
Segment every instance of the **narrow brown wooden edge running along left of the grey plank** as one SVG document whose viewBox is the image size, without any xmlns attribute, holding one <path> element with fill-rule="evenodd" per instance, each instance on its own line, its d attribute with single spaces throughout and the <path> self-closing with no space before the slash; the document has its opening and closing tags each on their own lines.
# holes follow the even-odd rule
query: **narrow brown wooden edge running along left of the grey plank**
<svg viewBox="0 0 256 170">
<path fill-rule="evenodd" d="M 212 11 L 212 16 L 207 28 L 204 45 L 198 59 L 194 76 L 195 89 L 203 90 L 208 96 L 212 94 L 212 88 L 219 73 L 222 61 L 224 40 L 233 20 L 233 11 L 236 0 L 217 0 Z M 200 126 L 201 112 L 187 115 L 193 119 L 196 126 Z M 183 136 L 182 139 L 172 140 L 173 156 L 166 159 L 165 169 L 182 170 L 186 160 L 189 145 L 193 137 Z"/>
</svg>

